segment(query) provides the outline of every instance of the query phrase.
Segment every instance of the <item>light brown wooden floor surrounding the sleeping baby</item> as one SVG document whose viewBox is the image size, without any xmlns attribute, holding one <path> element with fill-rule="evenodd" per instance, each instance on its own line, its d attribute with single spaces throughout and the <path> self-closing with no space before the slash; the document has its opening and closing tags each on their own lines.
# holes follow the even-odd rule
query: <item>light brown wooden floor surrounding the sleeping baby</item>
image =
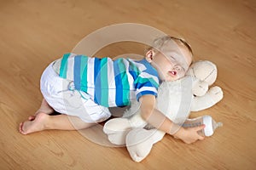
<svg viewBox="0 0 256 170">
<path fill-rule="evenodd" d="M 254 0 L 1 0 L 0 169 L 255 169 L 255 18 Z M 95 144 L 77 131 L 21 135 L 19 123 L 41 103 L 45 66 L 90 32 L 125 22 L 185 37 L 196 60 L 218 65 L 215 85 L 224 99 L 191 116 L 208 114 L 224 127 L 195 144 L 166 135 L 141 163 L 131 161 L 125 148 Z M 132 43 L 102 50 L 143 53 Z"/>
</svg>

